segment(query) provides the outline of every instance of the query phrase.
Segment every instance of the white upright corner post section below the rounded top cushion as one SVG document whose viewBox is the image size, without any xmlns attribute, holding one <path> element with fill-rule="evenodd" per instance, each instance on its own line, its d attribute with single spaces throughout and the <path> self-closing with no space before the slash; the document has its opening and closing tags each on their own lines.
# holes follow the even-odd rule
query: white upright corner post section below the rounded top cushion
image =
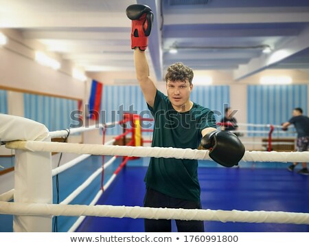
<svg viewBox="0 0 309 246">
<path fill-rule="evenodd" d="M 52 203 L 52 153 L 16 150 L 15 155 L 14 202 Z M 13 231 L 52 232 L 52 216 L 14 215 Z"/>
</svg>

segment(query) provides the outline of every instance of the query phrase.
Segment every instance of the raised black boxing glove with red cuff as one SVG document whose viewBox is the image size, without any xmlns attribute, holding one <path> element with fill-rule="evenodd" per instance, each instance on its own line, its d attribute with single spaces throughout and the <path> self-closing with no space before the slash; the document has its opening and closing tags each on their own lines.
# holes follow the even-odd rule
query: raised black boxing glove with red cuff
<svg viewBox="0 0 309 246">
<path fill-rule="evenodd" d="M 133 4 L 126 8 L 128 19 L 132 20 L 131 48 L 139 47 L 144 51 L 148 46 L 153 13 L 147 5 Z"/>
</svg>

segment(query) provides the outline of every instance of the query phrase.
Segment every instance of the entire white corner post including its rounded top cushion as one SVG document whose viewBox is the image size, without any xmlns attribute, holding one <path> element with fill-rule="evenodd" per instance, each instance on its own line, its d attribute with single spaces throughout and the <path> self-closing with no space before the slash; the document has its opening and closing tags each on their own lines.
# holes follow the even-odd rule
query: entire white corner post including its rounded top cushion
<svg viewBox="0 0 309 246">
<path fill-rule="evenodd" d="M 0 141 L 50 142 L 44 124 L 14 115 L 0 114 Z M 15 151 L 14 202 L 52 203 L 52 154 Z M 14 232 L 52 232 L 52 216 L 13 216 Z"/>
</svg>

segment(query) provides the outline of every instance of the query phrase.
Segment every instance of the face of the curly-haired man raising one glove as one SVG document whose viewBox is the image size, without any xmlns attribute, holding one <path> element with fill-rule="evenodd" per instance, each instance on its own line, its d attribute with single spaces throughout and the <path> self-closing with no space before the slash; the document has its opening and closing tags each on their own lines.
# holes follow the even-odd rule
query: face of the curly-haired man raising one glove
<svg viewBox="0 0 309 246">
<path fill-rule="evenodd" d="M 193 85 L 190 85 L 188 80 L 185 81 L 170 81 L 166 83 L 166 91 L 168 92 L 168 99 L 174 108 L 182 107 L 190 103 L 190 93 Z"/>
</svg>

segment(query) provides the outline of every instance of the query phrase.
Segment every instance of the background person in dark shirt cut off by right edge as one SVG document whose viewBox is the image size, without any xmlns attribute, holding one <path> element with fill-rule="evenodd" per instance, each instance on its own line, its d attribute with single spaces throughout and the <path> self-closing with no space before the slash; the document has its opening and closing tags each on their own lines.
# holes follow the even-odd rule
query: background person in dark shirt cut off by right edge
<svg viewBox="0 0 309 246">
<path fill-rule="evenodd" d="M 303 115 L 303 110 L 301 108 L 295 108 L 293 110 L 293 117 L 282 124 L 282 130 L 286 131 L 288 126 L 293 124 L 297 131 L 297 139 L 296 139 L 296 150 L 298 152 L 308 151 L 309 145 L 309 118 L 306 115 Z M 297 162 L 294 162 L 292 165 L 288 166 L 288 170 L 293 172 L 295 166 L 297 166 Z M 308 175 L 308 167 L 306 162 L 301 163 L 302 168 L 297 173 L 300 175 Z"/>
</svg>

